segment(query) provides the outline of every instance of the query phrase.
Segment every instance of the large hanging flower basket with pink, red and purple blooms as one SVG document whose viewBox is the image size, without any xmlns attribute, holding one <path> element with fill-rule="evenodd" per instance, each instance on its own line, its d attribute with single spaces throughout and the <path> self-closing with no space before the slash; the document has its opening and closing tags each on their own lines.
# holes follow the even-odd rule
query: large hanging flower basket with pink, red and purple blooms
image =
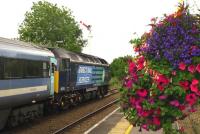
<svg viewBox="0 0 200 134">
<path fill-rule="evenodd" d="M 132 41 L 138 56 L 129 61 L 121 106 L 141 129 L 178 133 L 172 124 L 194 112 L 200 100 L 199 18 L 181 5 L 160 21 L 152 19 L 151 27 Z"/>
</svg>

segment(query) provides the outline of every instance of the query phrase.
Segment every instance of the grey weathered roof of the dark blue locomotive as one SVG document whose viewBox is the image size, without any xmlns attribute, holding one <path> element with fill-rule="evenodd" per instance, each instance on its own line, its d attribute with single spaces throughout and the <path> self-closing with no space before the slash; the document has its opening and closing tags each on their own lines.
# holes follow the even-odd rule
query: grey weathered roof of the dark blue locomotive
<svg viewBox="0 0 200 134">
<path fill-rule="evenodd" d="M 75 53 L 64 50 L 62 48 L 54 48 L 52 52 L 59 58 L 67 58 L 72 62 L 82 62 L 88 64 L 108 65 L 108 62 L 97 56 L 92 56 L 84 53 Z"/>
</svg>

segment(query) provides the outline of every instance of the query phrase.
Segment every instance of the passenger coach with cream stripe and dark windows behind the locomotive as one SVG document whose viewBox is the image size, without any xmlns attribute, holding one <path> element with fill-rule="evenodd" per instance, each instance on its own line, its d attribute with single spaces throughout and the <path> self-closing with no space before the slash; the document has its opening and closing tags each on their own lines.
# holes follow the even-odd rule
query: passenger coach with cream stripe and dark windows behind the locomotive
<svg viewBox="0 0 200 134">
<path fill-rule="evenodd" d="M 47 49 L 0 38 L 0 129 L 8 116 L 11 125 L 17 125 L 28 116 L 42 114 L 40 102 L 54 95 L 54 64 L 54 55 Z"/>
</svg>

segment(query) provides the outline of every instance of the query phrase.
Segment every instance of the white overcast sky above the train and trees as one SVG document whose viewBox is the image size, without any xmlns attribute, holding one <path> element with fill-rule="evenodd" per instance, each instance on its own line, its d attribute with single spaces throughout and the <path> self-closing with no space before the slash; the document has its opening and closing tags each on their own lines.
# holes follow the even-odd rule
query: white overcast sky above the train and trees
<svg viewBox="0 0 200 134">
<path fill-rule="evenodd" d="M 0 37 L 16 38 L 26 11 L 38 0 L 3 0 L 0 2 Z M 148 30 L 152 17 L 175 11 L 178 0 L 47 0 L 72 10 L 77 22 L 92 25 L 92 32 L 83 27 L 89 45 L 83 52 L 112 62 L 114 58 L 133 55 L 131 38 Z M 200 1 L 195 0 L 200 7 Z M 194 0 L 188 0 L 194 5 Z M 88 37 L 90 36 L 90 37 Z"/>
</svg>

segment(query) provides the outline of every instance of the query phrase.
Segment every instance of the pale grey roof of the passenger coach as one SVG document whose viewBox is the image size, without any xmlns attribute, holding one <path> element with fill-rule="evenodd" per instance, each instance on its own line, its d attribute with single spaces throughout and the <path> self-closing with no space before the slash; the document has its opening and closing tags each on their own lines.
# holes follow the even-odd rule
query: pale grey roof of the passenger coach
<svg viewBox="0 0 200 134">
<path fill-rule="evenodd" d="M 47 60 L 48 57 L 54 57 L 48 49 L 2 37 L 0 37 L 0 56 L 33 60 Z"/>
</svg>

